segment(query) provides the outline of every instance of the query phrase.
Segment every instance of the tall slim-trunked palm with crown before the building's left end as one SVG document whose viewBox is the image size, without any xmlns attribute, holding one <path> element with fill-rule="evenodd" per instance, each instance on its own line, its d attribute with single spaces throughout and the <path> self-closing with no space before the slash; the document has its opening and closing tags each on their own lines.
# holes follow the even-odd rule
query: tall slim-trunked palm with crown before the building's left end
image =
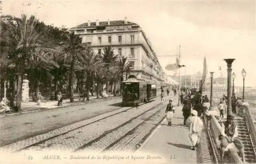
<svg viewBox="0 0 256 164">
<path fill-rule="evenodd" d="M 69 94 L 70 102 L 74 102 L 74 74 L 75 63 L 82 52 L 86 48 L 82 44 L 82 38 L 79 35 L 75 35 L 74 32 L 65 35 L 65 41 L 61 43 L 63 60 L 70 65 L 69 74 Z"/>
</svg>

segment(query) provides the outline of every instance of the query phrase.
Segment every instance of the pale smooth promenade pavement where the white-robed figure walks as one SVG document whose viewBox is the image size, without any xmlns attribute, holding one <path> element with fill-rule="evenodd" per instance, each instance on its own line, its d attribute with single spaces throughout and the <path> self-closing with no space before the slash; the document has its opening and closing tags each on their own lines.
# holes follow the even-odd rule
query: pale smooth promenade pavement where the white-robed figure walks
<svg viewBox="0 0 256 164">
<path fill-rule="evenodd" d="M 164 119 L 138 149 L 138 152 L 162 156 L 159 163 L 198 163 L 197 151 L 190 149 L 188 128 L 183 126 L 182 106 L 176 106 L 172 126 Z"/>
</svg>

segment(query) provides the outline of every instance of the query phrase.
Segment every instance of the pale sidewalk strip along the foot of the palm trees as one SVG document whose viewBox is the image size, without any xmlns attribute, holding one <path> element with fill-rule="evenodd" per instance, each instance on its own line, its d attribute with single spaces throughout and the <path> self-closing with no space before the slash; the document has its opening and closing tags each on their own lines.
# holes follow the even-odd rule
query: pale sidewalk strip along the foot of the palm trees
<svg viewBox="0 0 256 164">
<path fill-rule="evenodd" d="M 63 108 L 67 106 L 74 106 L 74 105 L 81 105 L 81 104 L 88 104 L 88 103 L 94 103 L 94 102 L 99 102 L 99 101 L 104 101 L 104 100 L 110 100 L 114 98 L 120 98 L 120 96 L 114 97 L 113 95 L 110 95 L 108 98 L 99 98 L 96 99 L 96 96 L 90 97 L 89 101 L 83 102 L 79 101 L 79 99 L 74 99 L 73 103 L 70 103 L 70 99 L 65 99 L 62 101 L 62 106 L 58 106 L 57 101 L 43 101 L 41 102 L 41 105 L 37 105 L 36 102 L 22 102 L 22 111 L 19 112 L 12 112 L 12 113 L 4 113 L 0 114 L 0 118 L 6 115 L 16 115 L 16 114 L 24 114 L 24 113 L 29 113 L 29 112 L 36 112 L 36 111 L 41 111 L 41 110 L 47 110 L 47 109 L 57 109 L 57 108 Z"/>
</svg>

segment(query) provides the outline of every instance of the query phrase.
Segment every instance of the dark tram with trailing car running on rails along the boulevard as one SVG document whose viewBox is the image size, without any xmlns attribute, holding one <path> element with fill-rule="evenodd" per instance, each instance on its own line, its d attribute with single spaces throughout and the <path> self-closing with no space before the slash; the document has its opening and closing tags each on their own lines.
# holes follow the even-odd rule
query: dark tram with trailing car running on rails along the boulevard
<svg viewBox="0 0 256 164">
<path fill-rule="evenodd" d="M 129 77 L 122 82 L 123 106 L 137 106 L 140 103 L 146 103 L 151 99 L 156 98 L 156 84 L 138 80 L 135 76 Z"/>
</svg>

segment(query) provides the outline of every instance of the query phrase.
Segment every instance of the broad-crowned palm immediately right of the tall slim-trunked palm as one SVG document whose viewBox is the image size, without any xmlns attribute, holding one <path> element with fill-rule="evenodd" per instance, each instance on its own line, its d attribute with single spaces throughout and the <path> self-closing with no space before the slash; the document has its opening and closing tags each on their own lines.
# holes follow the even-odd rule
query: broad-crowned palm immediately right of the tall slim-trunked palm
<svg viewBox="0 0 256 164">
<path fill-rule="evenodd" d="M 77 71 L 83 71 L 86 74 L 87 101 L 89 101 L 89 91 L 95 76 L 104 66 L 100 56 L 95 54 L 92 49 L 87 48 L 78 58 L 78 63 L 75 66 Z"/>
</svg>

